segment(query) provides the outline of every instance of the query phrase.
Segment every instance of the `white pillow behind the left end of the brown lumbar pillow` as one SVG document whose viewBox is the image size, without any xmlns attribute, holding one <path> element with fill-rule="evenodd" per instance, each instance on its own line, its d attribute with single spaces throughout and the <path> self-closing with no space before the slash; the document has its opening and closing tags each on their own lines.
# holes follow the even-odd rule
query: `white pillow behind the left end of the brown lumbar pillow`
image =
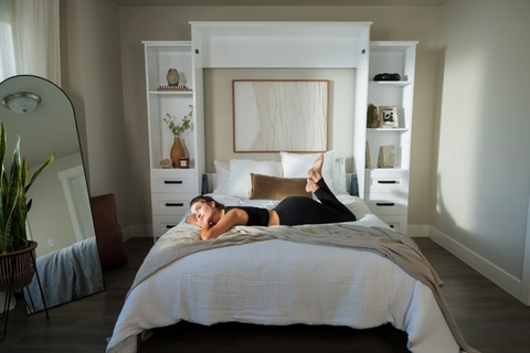
<svg viewBox="0 0 530 353">
<path fill-rule="evenodd" d="M 276 161 L 231 159 L 226 194 L 243 199 L 251 197 L 251 173 L 282 176 L 282 163 Z"/>
</svg>

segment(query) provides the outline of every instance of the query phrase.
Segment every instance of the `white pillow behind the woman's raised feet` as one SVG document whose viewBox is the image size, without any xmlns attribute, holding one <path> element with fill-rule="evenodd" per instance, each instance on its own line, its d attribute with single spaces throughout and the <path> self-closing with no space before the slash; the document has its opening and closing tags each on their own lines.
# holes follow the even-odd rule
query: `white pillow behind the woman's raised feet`
<svg viewBox="0 0 530 353">
<path fill-rule="evenodd" d="M 279 152 L 284 178 L 307 178 L 307 171 L 321 153 Z M 329 189 L 336 193 L 335 186 L 335 151 L 324 153 L 322 178 Z"/>
</svg>

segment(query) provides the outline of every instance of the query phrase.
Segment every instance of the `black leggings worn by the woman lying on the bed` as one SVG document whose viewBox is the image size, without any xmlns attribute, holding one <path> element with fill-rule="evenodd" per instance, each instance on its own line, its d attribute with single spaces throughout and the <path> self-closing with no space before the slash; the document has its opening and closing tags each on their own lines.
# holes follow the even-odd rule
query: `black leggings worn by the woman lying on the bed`
<svg viewBox="0 0 530 353">
<path fill-rule="evenodd" d="M 274 208 L 280 225 L 322 224 L 356 221 L 356 215 L 333 195 L 321 178 L 315 195 L 317 202 L 305 196 L 290 196 Z"/>
</svg>

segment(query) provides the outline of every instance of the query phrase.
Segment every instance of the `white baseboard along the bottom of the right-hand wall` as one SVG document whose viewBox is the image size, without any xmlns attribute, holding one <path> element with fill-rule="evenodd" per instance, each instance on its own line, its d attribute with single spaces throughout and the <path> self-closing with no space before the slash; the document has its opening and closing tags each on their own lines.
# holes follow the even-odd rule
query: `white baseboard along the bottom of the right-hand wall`
<svg viewBox="0 0 530 353">
<path fill-rule="evenodd" d="M 432 226 L 430 226 L 428 229 L 428 237 L 511 296 L 524 302 L 524 300 L 520 298 L 521 280 Z"/>
</svg>

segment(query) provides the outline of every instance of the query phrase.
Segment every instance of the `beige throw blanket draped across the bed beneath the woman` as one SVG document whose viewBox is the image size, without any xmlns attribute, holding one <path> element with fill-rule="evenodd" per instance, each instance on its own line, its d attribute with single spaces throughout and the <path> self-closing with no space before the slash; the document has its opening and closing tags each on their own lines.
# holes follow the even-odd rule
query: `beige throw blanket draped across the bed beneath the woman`
<svg viewBox="0 0 530 353">
<path fill-rule="evenodd" d="M 372 252 L 390 259 L 410 276 L 431 288 L 456 342 L 464 351 L 478 353 L 462 336 L 442 293 L 443 282 L 416 243 L 406 235 L 388 228 L 364 227 L 348 223 L 274 227 L 236 226 L 210 240 L 200 240 L 199 231 L 195 228 L 177 228 L 168 232 L 155 244 L 138 270 L 129 293 L 156 271 L 188 255 L 269 239 Z"/>
</svg>

